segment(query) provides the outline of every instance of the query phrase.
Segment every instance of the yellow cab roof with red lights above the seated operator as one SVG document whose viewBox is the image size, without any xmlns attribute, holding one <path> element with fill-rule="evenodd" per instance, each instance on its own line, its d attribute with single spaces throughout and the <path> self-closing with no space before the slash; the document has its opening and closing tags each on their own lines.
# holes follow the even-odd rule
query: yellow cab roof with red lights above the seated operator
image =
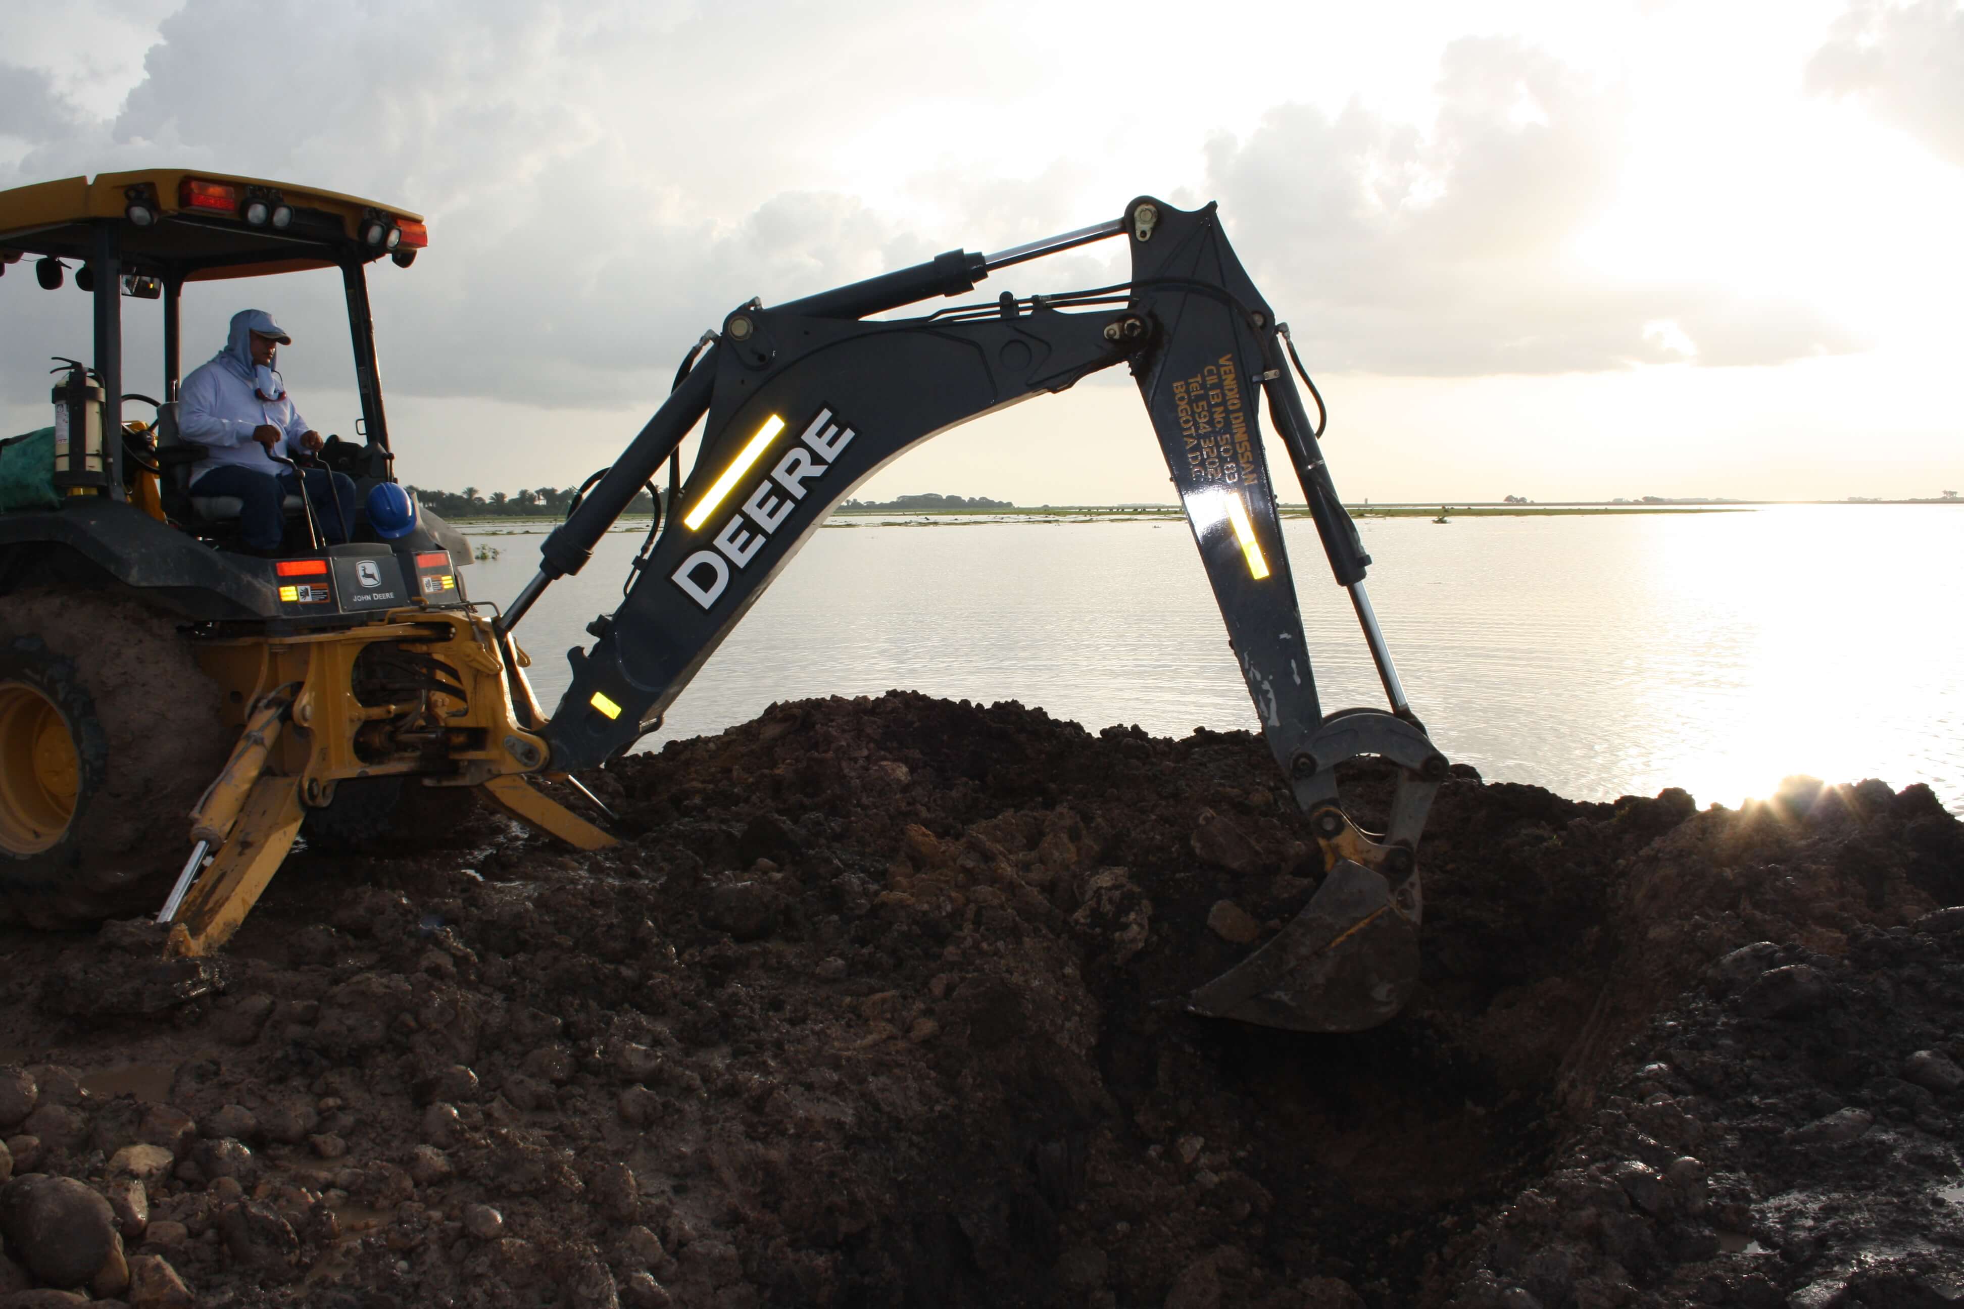
<svg viewBox="0 0 1964 1309">
<path fill-rule="evenodd" d="M 249 224 L 253 202 L 267 212 L 287 206 L 285 230 Z M 132 220 L 137 208 L 149 212 L 147 224 Z M 379 259 L 397 241 L 365 239 L 377 220 L 385 234 L 397 232 L 401 247 L 420 249 L 428 241 L 422 214 L 336 190 L 202 169 L 98 173 L 94 181 L 65 177 L 0 190 L 0 259 L 86 261 L 94 253 L 94 228 L 114 222 L 124 273 L 183 281 L 259 277 L 340 267 L 350 257 Z"/>
</svg>

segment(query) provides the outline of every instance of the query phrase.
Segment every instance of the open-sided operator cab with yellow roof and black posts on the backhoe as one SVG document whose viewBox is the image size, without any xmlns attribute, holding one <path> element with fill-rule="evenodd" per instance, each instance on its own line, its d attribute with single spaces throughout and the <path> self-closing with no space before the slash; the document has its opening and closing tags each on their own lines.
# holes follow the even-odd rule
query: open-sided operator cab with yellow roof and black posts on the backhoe
<svg viewBox="0 0 1964 1309">
<path fill-rule="evenodd" d="M 263 573 L 275 587 L 281 616 L 462 601 L 456 563 L 469 559 L 469 546 L 456 528 L 414 506 L 414 526 L 391 536 L 369 524 L 365 512 L 369 491 L 395 481 L 367 265 L 387 257 L 407 269 L 426 245 L 428 230 L 418 214 L 222 173 L 151 169 L 0 190 L 0 275 L 31 267 L 47 290 L 73 279 L 94 304 L 92 365 L 69 359 L 67 369 L 57 369 L 57 453 L 47 493 L 53 498 L 41 508 L 73 510 L 75 498 L 88 497 L 139 510 L 204 542 L 228 563 Z M 192 465 L 208 447 L 177 430 L 181 296 L 187 283 L 308 269 L 338 269 L 348 302 L 361 420 L 357 440 L 326 438 L 318 465 L 355 483 L 352 536 L 346 546 L 326 546 L 306 500 L 287 495 L 281 555 L 293 559 L 255 559 L 242 553 L 242 502 L 196 495 L 191 485 Z M 124 296 L 163 304 L 157 394 L 126 391 Z M 69 353 L 81 351 L 71 347 Z M 126 420 L 126 402 L 149 412 Z M 79 440 L 67 440 L 71 434 Z M 45 430 L 33 436 L 45 438 Z M 8 508 L 20 506 L 0 504 Z M 86 508 L 106 512 L 102 504 Z M 310 571 L 302 577 L 295 567 Z"/>
</svg>

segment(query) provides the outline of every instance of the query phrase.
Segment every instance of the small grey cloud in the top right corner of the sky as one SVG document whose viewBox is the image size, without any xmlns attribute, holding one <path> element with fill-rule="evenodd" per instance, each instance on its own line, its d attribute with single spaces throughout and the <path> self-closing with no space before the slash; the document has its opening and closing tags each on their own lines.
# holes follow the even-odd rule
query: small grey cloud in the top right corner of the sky
<svg viewBox="0 0 1964 1309">
<path fill-rule="evenodd" d="M 1809 61 L 1807 88 L 1862 100 L 1937 157 L 1964 165 L 1964 6 L 1854 4 Z"/>
</svg>

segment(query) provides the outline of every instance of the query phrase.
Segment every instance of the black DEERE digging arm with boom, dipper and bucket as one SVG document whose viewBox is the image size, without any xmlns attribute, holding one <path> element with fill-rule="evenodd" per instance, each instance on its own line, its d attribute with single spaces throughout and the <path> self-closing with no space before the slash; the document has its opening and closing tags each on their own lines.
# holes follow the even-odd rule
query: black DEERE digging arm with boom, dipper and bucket
<svg viewBox="0 0 1964 1309">
<path fill-rule="evenodd" d="M 990 269 L 1123 234 L 1129 285 L 864 322 L 958 294 Z M 593 542 L 705 416 L 701 453 L 646 563 L 544 726 L 552 769 L 627 750 L 715 652 L 833 504 L 907 445 L 958 422 L 1129 361 L 1178 487 L 1229 644 L 1271 752 L 1324 848 L 1318 895 L 1243 966 L 1194 995 L 1200 1013 L 1273 1026 L 1353 1030 L 1394 1015 L 1416 985 L 1416 842 L 1446 759 L 1404 705 L 1363 593 L 1371 563 L 1337 500 L 1288 377 L 1275 314 L 1222 234 L 1214 206 L 1133 200 L 1125 218 L 982 257 L 929 265 L 795 300 L 750 302 L 683 377 L 615 469 L 542 548 L 538 591 L 577 571 Z M 1392 710 L 1322 712 L 1263 453 L 1259 408 L 1288 449 L 1324 553 L 1349 589 Z M 1337 805 L 1355 756 L 1402 767 L 1391 828 L 1365 834 Z"/>
</svg>

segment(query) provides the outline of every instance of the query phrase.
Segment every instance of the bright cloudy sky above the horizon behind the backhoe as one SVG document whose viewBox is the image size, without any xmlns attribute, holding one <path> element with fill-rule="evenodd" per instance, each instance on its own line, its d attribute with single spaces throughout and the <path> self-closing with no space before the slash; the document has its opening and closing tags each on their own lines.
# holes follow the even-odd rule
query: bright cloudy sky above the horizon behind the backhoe
<svg viewBox="0 0 1964 1309">
<path fill-rule="evenodd" d="M 0 188 L 208 167 L 426 214 L 371 294 L 397 473 L 568 485 L 766 304 L 1220 202 L 1330 402 L 1347 500 L 1964 491 L 1958 0 L 1178 4 L 4 0 Z M 1121 281 L 1123 247 L 976 288 Z M 354 434 L 334 273 L 192 287 Z M 929 308 L 941 308 L 947 302 Z M 126 300 L 130 389 L 153 302 Z M 0 430 L 86 296 L 0 281 Z M 1286 477 L 1286 473 L 1284 473 Z M 1123 369 L 862 497 L 1171 502 Z M 1284 485 L 1284 498 L 1294 498 Z"/>
</svg>

